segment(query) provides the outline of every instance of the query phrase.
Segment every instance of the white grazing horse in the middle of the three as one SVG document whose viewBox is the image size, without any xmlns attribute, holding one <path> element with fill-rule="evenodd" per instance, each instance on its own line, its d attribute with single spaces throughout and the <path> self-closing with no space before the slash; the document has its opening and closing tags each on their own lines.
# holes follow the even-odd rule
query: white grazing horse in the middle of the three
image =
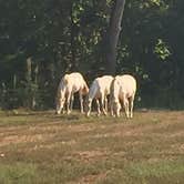
<svg viewBox="0 0 184 184">
<path fill-rule="evenodd" d="M 95 99 L 96 105 L 98 105 L 98 115 L 102 112 L 106 115 L 108 112 L 108 95 L 110 94 L 110 86 L 111 82 L 113 80 L 113 76 L 111 75 L 103 75 L 101 78 L 96 78 L 89 91 L 88 101 L 86 101 L 86 116 L 91 113 L 91 105 L 93 99 Z"/>
</svg>

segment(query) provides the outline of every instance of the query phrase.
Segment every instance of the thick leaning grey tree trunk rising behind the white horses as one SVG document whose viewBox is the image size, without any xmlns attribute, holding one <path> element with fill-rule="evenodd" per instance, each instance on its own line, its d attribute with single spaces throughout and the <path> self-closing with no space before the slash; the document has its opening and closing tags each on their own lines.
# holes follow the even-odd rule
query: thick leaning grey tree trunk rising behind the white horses
<svg viewBox="0 0 184 184">
<path fill-rule="evenodd" d="M 121 31 L 125 0 L 115 0 L 111 13 L 110 27 L 106 34 L 106 72 L 115 74 L 116 45 Z"/>
</svg>

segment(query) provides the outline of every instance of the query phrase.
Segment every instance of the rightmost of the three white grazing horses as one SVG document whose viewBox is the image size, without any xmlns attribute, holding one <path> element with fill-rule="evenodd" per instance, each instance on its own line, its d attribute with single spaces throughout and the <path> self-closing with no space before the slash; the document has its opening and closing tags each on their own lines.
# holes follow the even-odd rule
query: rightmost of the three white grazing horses
<svg viewBox="0 0 184 184">
<path fill-rule="evenodd" d="M 111 84 L 111 114 L 120 116 L 121 102 L 125 109 L 126 117 L 133 117 L 136 81 L 130 74 L 116 75 Z"/>
</svg>

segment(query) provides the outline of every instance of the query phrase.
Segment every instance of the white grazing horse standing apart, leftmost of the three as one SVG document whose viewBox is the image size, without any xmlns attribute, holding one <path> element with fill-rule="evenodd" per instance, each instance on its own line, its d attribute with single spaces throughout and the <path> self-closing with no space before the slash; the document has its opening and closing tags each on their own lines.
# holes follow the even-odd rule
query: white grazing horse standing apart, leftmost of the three
<svg viewBox="0 0 184 184">
<path fill-rule="evenodd" d="M 83 95 L 88 94 L 89 88 L 81 73 L 65 74 L 58 86 L 57 113 L 60 114 L 67 103 L 67 113 L 73 108 L 74 93 L 79 92 L 81 113 L 83 113 Z"/>
</svg>

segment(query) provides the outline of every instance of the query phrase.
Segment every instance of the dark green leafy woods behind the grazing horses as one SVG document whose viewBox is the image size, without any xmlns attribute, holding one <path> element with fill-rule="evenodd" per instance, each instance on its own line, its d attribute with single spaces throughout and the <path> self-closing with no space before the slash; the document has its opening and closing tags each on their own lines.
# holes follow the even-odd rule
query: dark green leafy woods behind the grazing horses
<svg viewBox="0 0 184 184">
<path fill-rule="evenodd" d="M 53 108 L 63 73 L 105 74 L 113 3 L 0 0 L 0 106 Z M 183 0 L 126 0 L 116 74 L 137 79 L 137 106 L 184 108 L 183 38 Z"/>
</svg>

